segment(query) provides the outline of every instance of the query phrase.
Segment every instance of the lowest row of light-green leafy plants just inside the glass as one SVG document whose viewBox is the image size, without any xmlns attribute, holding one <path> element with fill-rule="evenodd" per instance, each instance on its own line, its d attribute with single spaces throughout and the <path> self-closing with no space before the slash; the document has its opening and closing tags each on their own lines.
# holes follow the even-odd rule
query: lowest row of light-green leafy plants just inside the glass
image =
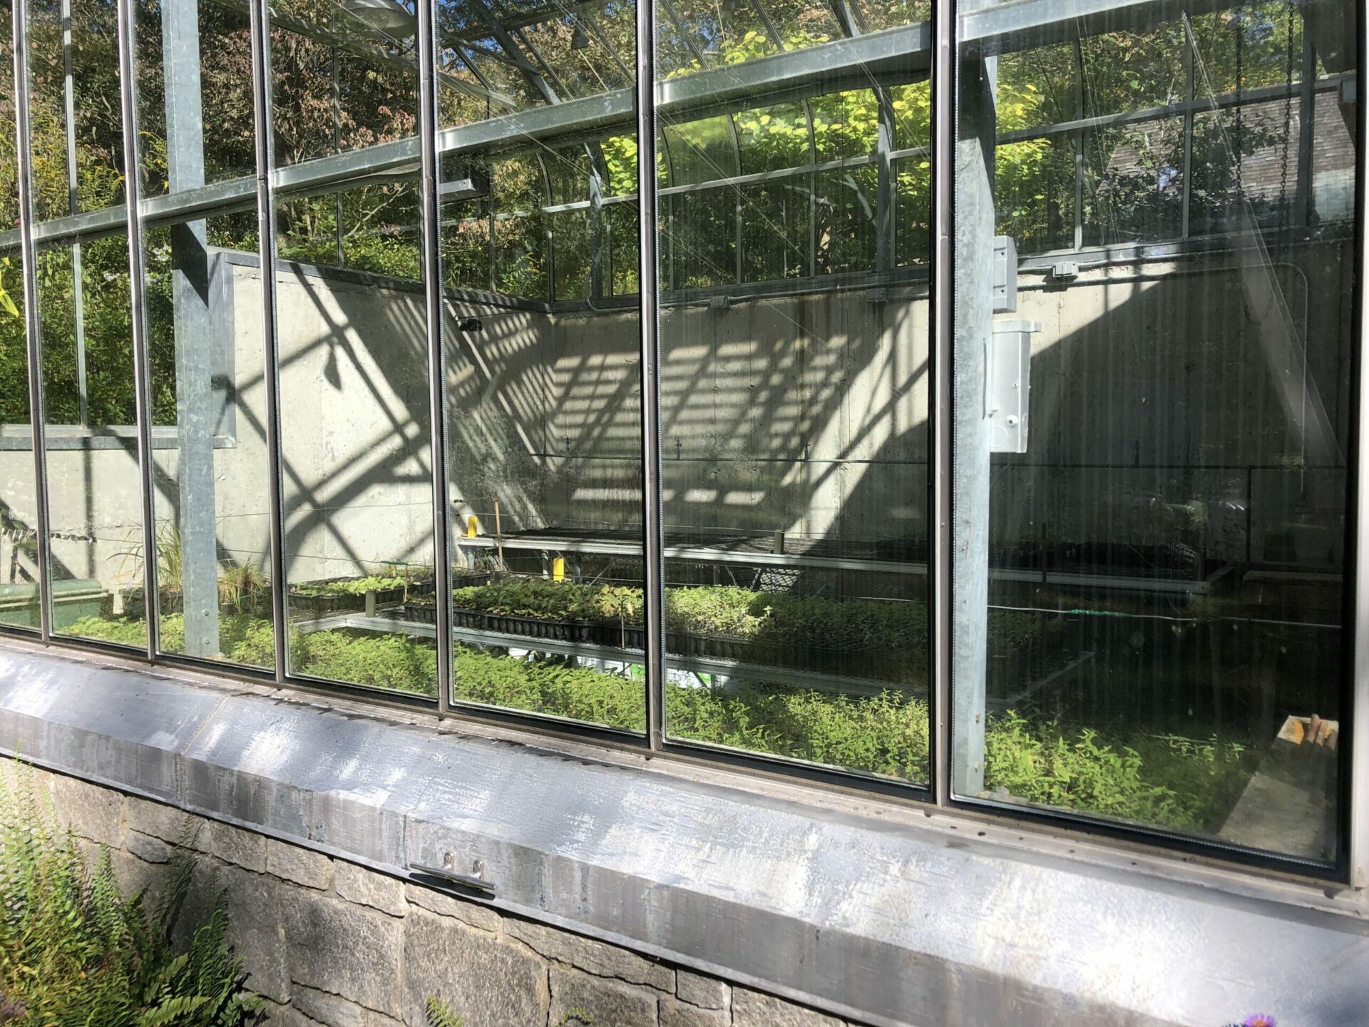
<svg viewBox="0 0 1369 1027">
<path fill-rule="evenodd" d="M 583 587 L 565 582 L 548 585 L 554 587 L 538 587 L 539 594 L 557 597 L 564 589 Z M 680 589 L 676 594 L 694 592 L 704 589 Z M 746 589 L 713 592 L 756 596 Z M 585 608 L 582 598 L 574 601 Z M 728 603 L 735 611 L 739 598 L 726 594 L 709 609 L 726 611 Z M 816 630 L 820 608 L 797 605 L 794 616 Z M 244 616 L 225 618 L 220 624 L 225 652 L 231 659 L 270 665 L 270 622 Z M 168 615 L 162 626 L 170 648 L 181 630 L 181 619 Z M 910 633 L 916 630 L 909 629 Z M 88 618 L 73 626 L 73 631 L 133 645 L 144 641 L 138 620 Z M 427 642 L 398 634 L 292 631 L 290 653 L 292 665 L 308 674 L 434 694 L 437 655 Z M 645 728 L 645 692 L 639 678 L 575 665 L 560 657 L 520 660 L 456 645 L 453 686 L 456 696 L 470 702 L 538 711 L 627 731 Z M 857 697 L 754 682 L 732 689 L 672 685 L 667 689 L 665 713 L 676 738 L 912 781 L 927 778 L 927 704 L 894 689 Z M 984 738 L 987 789 L 1027 802 L 1181 831 L 1220 827 L 1253 770 L 1250 753 L 1218 738 L 1195 742 L 1139 733 L 1113 734 L 1013 711 L 991 715 Z"/>
</svg>

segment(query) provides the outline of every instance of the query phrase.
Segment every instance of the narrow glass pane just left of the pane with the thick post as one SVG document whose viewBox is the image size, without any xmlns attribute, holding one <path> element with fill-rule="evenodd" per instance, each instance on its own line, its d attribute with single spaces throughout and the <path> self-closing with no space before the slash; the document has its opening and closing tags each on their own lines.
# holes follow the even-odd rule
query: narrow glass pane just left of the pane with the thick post
<svg viewBox="0 0 1369 1027">
<path fill-rule="evenodd" d="M 63 14 L 59 3 L 29 11 L 36 215 L 47 220 L 108 207 L 122 215 L 115 11 L 77 0 L 66 19 Z M 53 630 L 141 649 L 146 623 L 127 237 L 55 240 L 37 253 L 36 271 Z M 155 414 L 171 412 L 162 404 Z"/>
</svg>

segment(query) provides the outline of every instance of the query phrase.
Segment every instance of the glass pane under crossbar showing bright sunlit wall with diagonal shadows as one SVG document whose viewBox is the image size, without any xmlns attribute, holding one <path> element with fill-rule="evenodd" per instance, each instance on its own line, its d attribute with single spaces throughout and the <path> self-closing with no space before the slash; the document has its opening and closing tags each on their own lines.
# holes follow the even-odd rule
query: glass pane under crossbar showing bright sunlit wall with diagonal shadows
<svg viewBox="0 0 1369 1027">
<path fill-rule="evenodd" d="M 290 670 L 435 696 L 431 635 L 404 623 L 434 587 L 416 182 L 344 188 L 364 271 L 315 263 L 333 201 L 275 208 Z"/>
</svg>

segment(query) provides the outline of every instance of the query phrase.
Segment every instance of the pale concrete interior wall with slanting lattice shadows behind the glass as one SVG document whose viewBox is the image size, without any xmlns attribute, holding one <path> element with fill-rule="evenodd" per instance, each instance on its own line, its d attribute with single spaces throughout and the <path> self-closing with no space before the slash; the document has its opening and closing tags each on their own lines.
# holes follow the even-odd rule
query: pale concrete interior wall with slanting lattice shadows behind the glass
<svg viewBox="0 0 1369 1027">
<path fill-rule="evenodd" d="M 994 533 L 1146 542 L 1157 504 L 1249 493 L 1254 559 L 1291 519 L 1339 535 L 1344 472 L 1299 448 L 1279 368 L 1238 260 L 1214 253 L 1023 279 L 1032 344 L 1031 440 L 995 456 Z M 1348 244 L 1270 260 L 1306 381 L 1347 437 Z M 842 538 L 925 534 L 928 301 L 905 289 L 668 307 L 661 316 L 665 520 L 674 529 Z M 266 412 L 260 270 L 233 266 L 235 430 L 215 449 L 220 557 L 264 564 Z M 286 538 L 294 581 L 431 563 L 422 294 L 293 266 L 278 272 Z M 449 501 L 493 529 L 630 527 L 641 519 L 638 315 L 449 303 Z M 457 329 L 475 315 L 479 331 Z M 48 455 L 59 575 L 126 589 L 137 561 L 129 448 Z M 157 516 L 177 516 L 177 452 L 155 453 Z M 1342 464 L 1343 467 L 1343 464 Z M 18 534 L 33 524 L 31 453 L 0 452 Z M 1335 542 L 1339 546 L 1339 541 Z M 26 546 L 21 542 L 18 564 Z M 31 545 L 27 546 L 31 550 Z M 1338 550 L 1336 550 L 1338 552 Z M 1336 552 L 1314 552 L 1313 561 Z M 12 574 L 14 571 L 11 571 Z"/>
</svg>

